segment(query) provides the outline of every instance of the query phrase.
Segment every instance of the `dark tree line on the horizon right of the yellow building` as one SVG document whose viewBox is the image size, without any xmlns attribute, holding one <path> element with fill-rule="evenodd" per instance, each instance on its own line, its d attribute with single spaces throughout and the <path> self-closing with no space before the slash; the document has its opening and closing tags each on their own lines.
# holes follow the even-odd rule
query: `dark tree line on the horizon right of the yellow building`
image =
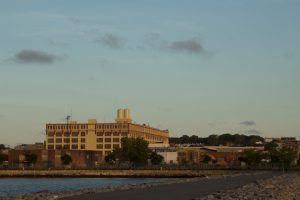
<svg viewBox="0 0 300 200">
<path fill-rule="evenodd" d="M 207 146 L 257 146 L 264 142 L 264 138 L 258 135 L 243 135 L 225 133 L 222 135 L 209 135 L 208 137 L 198 137 L 197 135 L 183 135 L 181 137 L 170 137 L 171 144 L 202 144 Z"/>
</svg>

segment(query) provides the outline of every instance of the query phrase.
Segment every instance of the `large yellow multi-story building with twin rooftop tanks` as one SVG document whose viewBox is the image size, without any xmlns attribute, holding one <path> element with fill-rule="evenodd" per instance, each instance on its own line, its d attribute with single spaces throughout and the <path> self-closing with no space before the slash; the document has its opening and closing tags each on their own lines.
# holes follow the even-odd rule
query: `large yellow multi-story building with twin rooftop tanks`
<svg viewBox="0 0 300 200">
<path fill-rule="evenodd" d="M 128 109 L 119 109 L 113 123 L 67 122 L 46 124 L 46 149 L 100 151 L 102 155 L 120 147 L 123 137 L 141 137 L 151 143 L 169 143 L 169 131 L 132 123 Z"/>
</svg>

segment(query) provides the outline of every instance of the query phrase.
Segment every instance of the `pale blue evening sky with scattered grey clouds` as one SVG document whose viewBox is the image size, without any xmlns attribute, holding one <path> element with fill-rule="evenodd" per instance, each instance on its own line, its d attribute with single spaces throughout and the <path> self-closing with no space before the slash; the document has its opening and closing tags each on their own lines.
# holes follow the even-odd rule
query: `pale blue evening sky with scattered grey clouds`
<svg viewBox="0 0 300 200">
<path fill-rule="evenodd" d="M 300 136 L 298 0 L 0 0 L 0 143 L 118 108 L 170 135 Z"/>
</svg>

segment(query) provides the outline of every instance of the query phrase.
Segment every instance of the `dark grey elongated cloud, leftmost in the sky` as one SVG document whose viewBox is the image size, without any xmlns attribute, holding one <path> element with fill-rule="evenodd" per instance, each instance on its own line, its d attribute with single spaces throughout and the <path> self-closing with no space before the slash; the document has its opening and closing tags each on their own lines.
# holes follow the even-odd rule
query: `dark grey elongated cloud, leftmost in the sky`
<svg viewBox="0 0 300 200">
<path fill-rule="evenodd" d="M 17 52 L 13 58 L 18 63 L 42 63 L 52 64 L 54 61 L 61 60 L 61 56 L 48 54 L 43 51 L 23 49 Z"/>
</svg>

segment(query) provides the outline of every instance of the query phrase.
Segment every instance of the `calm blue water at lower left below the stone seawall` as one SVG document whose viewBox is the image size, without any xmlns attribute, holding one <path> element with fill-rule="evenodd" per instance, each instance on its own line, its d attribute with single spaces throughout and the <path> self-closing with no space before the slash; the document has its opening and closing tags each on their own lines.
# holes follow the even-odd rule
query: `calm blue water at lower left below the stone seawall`
<svg viewBox="0 0 300 200">
<path fill-rule="evenodd" d="M 158 182 L 157 178 L 0 178 L 0 196 L 37 192 L 101 187 L 108 185 Z"/>
</svg>

